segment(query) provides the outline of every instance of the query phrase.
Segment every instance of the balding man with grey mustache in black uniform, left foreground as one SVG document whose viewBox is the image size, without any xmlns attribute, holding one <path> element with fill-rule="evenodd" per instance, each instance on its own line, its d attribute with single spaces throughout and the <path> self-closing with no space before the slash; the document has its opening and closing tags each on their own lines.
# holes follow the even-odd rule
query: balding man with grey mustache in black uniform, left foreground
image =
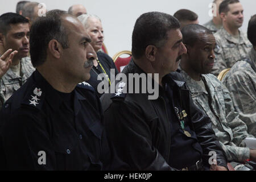
<svg viewBox="0 0 256 182">
<path fill-rule="evenodd" d="M 84 26 L 49 11 L 32 25 L 30 45 L 36 71 L 1 110 L 0 168 L 105 169 L 101 104 L 84 82 L 96 58 Z"/>
</svg>

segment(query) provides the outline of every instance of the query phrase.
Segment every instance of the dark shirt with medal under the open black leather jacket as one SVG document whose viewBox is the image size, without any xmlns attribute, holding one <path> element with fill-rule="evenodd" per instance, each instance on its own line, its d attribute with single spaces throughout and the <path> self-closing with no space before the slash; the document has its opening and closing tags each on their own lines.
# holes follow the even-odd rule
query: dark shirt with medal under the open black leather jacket
<svg viewBox="0 0 256 182">
<path fill-rule="evenodd" d="M 174 87 L 177 84 L 172 79 L 163 78 L 164 100 L 168 110 L 168 118 L 171 125 L 171 152 L 169 158 L 170 166 L 176 169 L 190 167 L 196 164 L 202 158 L 203 150 L 197 140 L 196 134 L 187 125 L 187 114 L 181 106 L 179 89 Z M 173 99 L 178 98 L 178 99 Z M 181 127 L 181 122 L 184 122 L 184 129 Z M 191 136 L 186 135 L 184 131 Z"/>
</svg>

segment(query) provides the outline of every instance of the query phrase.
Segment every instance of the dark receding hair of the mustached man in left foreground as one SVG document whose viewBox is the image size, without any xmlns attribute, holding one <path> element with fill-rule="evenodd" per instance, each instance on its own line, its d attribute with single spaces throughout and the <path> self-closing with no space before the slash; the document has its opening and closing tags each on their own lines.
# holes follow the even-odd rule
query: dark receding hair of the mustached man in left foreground
<svg viewBox="0 0 256 182">
<path fill-rule="evenodd" d="M 56 39 L 63 48 L 68 48 L 68 32 L 61 18 L 69 15 L 67 11 L 51 10 L 46 16 L 39 17 L 30 30 L 30 56 L 34 67 L 44 63 L 47 57 L 48 43 Z M 71 15 L 69 15 L 71 16 Z"/>
</svg>

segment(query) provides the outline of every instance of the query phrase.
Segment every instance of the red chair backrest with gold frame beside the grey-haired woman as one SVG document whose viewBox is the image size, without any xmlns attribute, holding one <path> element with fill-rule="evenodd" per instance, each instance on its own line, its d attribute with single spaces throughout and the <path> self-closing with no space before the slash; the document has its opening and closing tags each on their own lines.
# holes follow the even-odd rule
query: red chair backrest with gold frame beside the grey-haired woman
<svg viewBox="0 0 256 182">
<path fill-rule="evenodd" d="M 129 55 L 129 57 L 120 57 L 123 54 Z M 119 72 L 122 72 L 123 68 L 125 68 L 125 66 L 129 64 L 130 60 L 131 60 L 131 51 L 121 51 L 116 53 L 113 56 L 115 67 L 117 67 Z"/>
</svg>

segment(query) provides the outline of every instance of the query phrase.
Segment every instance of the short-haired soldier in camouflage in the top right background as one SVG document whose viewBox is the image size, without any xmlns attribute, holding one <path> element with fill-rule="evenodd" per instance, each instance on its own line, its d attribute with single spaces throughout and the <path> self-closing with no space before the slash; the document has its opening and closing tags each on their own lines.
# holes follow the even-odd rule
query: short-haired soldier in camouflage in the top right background
<svg viewBox="0 0 256 182">
<path fill-rule="evenodd" d="M 231 68 L 238 60 L 248 57 L 251 44 L 246 35 L 239 30 L 243 24 L 243 7 L 238 0 L 224 0 L 220 4 L 219 14 L 223 27 L 218 30 L 216 59 L 212 73 L 218 75 L 223 69 Z"/>
</svg>

